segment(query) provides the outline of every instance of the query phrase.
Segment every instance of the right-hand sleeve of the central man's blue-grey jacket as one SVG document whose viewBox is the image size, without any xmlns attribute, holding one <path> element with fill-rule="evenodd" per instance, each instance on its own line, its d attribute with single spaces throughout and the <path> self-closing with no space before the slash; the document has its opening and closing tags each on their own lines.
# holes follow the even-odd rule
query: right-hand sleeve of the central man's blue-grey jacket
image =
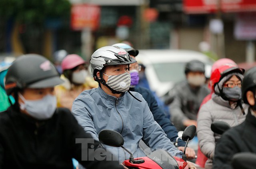
<svg viewBox="0 0 256 169">
<path fill-rule="evenodd" d="M 176 149 L 176 147 L 170 142 L 170 139 L 166 137 L 166 134 L 154 121 L 153 115 L 150 112 L 148 104 L 143 99 L 143 141 L 151 149 L 164 149 L 173 156 L 181 157 L 182 151 Z"/>
</svg>

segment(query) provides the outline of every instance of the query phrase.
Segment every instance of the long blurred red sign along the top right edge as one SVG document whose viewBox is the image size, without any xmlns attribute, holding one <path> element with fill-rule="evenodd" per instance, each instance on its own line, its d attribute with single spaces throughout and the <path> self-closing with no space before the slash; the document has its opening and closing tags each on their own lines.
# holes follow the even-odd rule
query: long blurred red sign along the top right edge
<svg viewBox="0 0 256 169">
<path fill-rule="evenodd" d="M 218 2 L 222 12 L 256 11 L 256 0 L 183 0 L 183 10 L 188 14 L 212 13 Z"/>
</svg>

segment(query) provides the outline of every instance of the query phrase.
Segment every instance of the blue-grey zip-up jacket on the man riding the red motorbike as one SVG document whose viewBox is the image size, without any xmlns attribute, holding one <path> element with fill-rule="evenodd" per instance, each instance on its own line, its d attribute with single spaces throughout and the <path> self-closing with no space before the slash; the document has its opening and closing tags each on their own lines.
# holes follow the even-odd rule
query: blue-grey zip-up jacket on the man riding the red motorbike
<svg viewBox="0 0 256 169">
<path fill-rule="evenodd" d="M 98 140 L 102 129 L 111 129 L 124 137 L 126 147 L 134 157 L 146 156 L 138 147 L 140 139 L 153 149 L 165 149 L 180 157 L 183 153 L 174 147 L 162 128 L 154 121 L 147 102 L 137 92 L 124 93 L 116 98 L 106 94 L 100 87 L 83 91 L 72 106 L 72 113 L 84 130 Z M 106 146 L 107 147 L 107 146 Z M 108 147 L 120 162 L 130 155 L 120 147 Z"/>
</svg>

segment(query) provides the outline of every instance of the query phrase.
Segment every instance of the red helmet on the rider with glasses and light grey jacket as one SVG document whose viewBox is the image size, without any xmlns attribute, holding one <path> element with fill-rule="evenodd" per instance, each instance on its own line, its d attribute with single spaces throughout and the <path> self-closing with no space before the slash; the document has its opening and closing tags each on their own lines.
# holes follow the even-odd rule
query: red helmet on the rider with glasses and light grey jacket
<svg viewBox="0 0 256 169">
<path fill-rule="evenodd" d="M 214 91 L 215 84 L 220 82 L 220 80 L 224 76 L 226 76 L 227 74 L 230 74 L 232 72 L 238 72 L 238 73 L 243 75 L 244 74 L 244 69 L 238 68 L 236 63 L 234 63 L 234 64 L 232 64 L 232 63 L 223 64 L 223 65 L 219 66 L 218 68 L 216 68 L 212 72 L 212 75 L 210 77 L 210 85 L 212 87 L 212 91 Z"/>
</svg>

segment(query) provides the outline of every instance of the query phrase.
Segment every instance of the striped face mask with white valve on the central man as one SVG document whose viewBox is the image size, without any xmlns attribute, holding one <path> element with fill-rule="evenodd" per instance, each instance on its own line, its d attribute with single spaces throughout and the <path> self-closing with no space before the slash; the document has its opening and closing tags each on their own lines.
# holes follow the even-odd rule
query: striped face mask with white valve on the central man
<svg viewBox="0 0 256 169">
<path fill-rule="evenodd" d="M 130 88 L 131 76 L 129 73 L 110 75 L 108 76 L 108 82 L 106 84 L 116 91 L 125 92 L 128 91 Z"/>
</svg>

